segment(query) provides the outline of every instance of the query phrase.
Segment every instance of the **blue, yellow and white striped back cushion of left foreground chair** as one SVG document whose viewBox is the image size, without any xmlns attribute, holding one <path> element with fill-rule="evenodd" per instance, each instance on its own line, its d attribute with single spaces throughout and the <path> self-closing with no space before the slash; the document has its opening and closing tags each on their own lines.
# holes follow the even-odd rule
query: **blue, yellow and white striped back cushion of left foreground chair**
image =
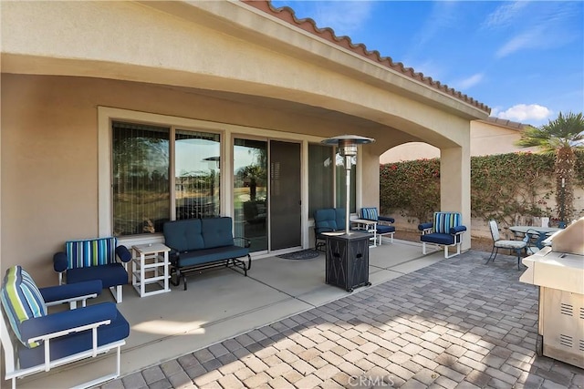
<svg viewBox="0 0 584 389">
<path fill-rule="evenodd" d="M 6 271 L 0 300 L 20 343 L 26 348 L 35 348 L 41 344 L 26 342 L 29 337 L 23 333 L 22 324 L 30 319 L 46 316 L 47 305 L 36 283 L 22 267 L 16 265 Z"/>
</svg>

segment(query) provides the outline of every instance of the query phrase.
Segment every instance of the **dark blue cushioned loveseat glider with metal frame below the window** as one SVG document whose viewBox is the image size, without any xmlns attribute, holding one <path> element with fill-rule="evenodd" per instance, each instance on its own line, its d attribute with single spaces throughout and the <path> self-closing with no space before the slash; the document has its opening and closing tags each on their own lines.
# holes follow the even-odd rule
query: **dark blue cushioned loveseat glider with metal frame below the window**
<svg viewBox="0 0 584 389">
<path fill-rule="evenodd" d="M 171 282 L 177 286 L 186 273 L 218 266 L 237 267 L 247 271 L 252 267 L 250 241 L 234 238 L 233 220 L 229 217 L 173 220 L 164 223 L 164 243 L 171 248 Z M 235 244 L 241 241 L 241 245 Z M 247 263 L 240 258 L 247 257 Z"/>
</svg>

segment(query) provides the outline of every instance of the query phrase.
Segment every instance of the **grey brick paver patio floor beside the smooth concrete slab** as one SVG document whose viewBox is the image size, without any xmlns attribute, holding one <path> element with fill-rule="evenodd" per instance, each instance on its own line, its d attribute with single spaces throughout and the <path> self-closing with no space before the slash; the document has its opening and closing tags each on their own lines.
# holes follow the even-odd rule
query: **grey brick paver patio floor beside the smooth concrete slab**
<svg viewBox="0 0 584 389">
<path fill-rule="evenodd" d="M 535 353 L 537 287 L 468 251 L 103 384 L 108 388 L 584 388 Z M 332 288 L 333 286 L 331 286 Z"/>
</svg>

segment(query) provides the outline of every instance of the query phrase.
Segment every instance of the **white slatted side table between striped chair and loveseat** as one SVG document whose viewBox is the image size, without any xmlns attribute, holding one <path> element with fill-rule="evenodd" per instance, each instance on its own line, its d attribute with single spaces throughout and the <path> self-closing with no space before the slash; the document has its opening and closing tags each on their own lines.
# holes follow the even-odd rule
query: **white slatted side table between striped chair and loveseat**
<svg viewBox="0 0 584 389">
<path fill-rule="evenodd" d="M 171 292 L 168 283 L 171 249 L 162 243 L 151 243 L 132 246 L 131 251 L 131 284 L 140 297 Z"/>
</svg>

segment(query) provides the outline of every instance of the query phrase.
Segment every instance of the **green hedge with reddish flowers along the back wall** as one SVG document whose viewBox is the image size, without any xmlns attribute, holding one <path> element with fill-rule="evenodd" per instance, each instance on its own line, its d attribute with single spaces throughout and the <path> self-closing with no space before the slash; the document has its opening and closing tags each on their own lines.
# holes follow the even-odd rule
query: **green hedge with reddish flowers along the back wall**
<svg viewBox="0 0 584 389">
<path fill-rule="evenodd" d="M 579 154 L 574 188 L 584 188 L 584 155 Z M 554 156 L 518 152 L 471 158 L 471 214 L 507 220 L 516 216 L 548 216 L 553 197 Z M 382 213 L 398 212 L 412 223 L 432 220 L 440 210 L 440 159 L 416 159 L 381 165 Z"/>
</svg>

